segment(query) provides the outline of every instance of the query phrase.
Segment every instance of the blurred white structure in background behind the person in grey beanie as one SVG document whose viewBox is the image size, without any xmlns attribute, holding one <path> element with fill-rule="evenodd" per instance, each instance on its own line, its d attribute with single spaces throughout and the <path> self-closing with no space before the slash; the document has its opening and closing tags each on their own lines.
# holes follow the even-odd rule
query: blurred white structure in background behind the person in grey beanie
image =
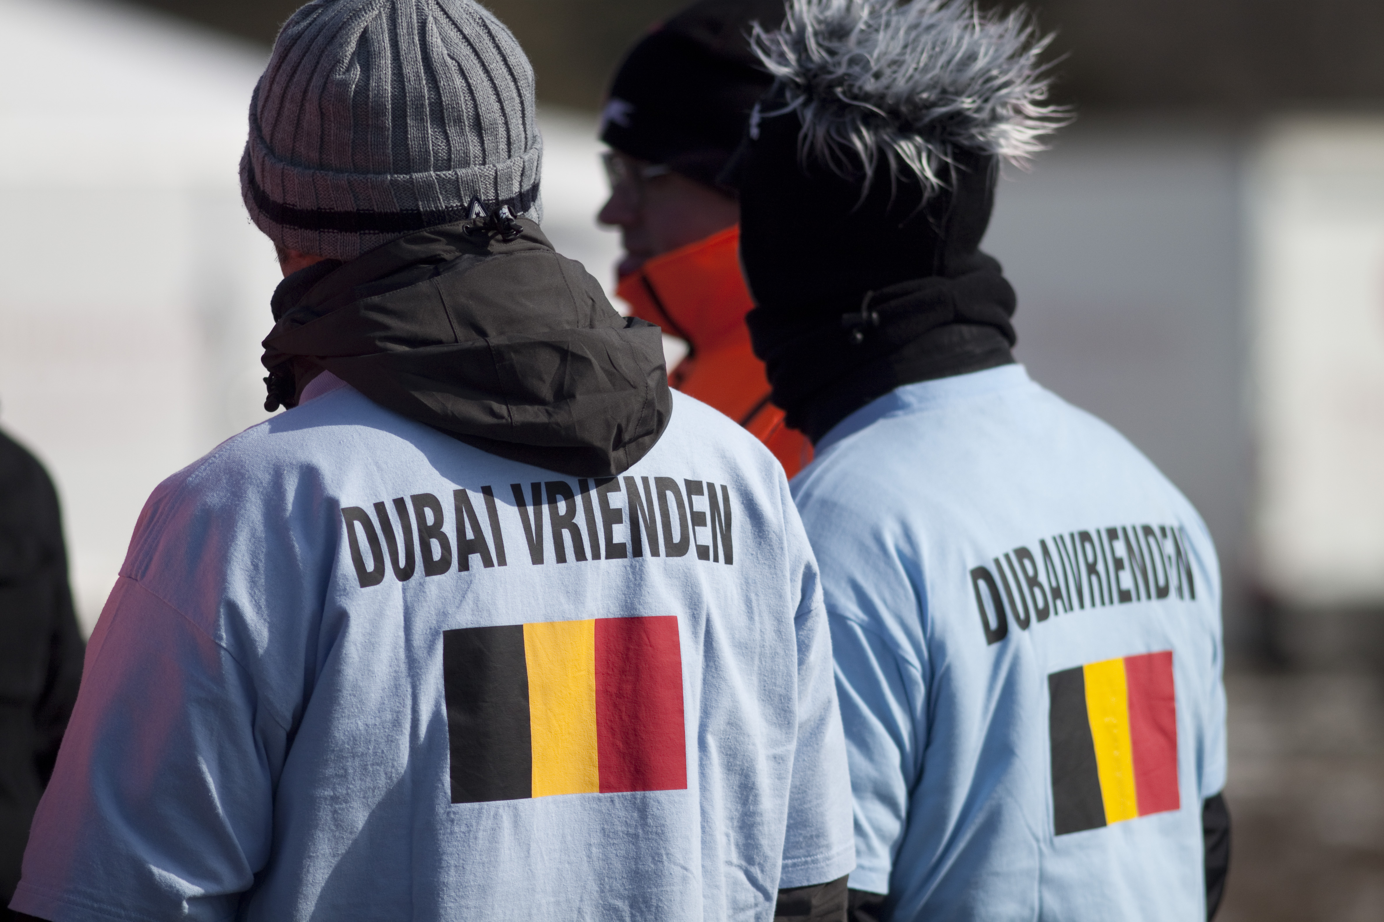
<svg viewBox="0 0 1384 922">
<path fill-rule="evenodd" d="M 267 416 L 281 275 L 238 178 L 263 66 L 134 8 L 0 0 L 0 426 L 57 481 L 87 630 L 154 487 Z M 609 285 L 595 123 L 540 124 L 544 231 Z"/>
</svg>

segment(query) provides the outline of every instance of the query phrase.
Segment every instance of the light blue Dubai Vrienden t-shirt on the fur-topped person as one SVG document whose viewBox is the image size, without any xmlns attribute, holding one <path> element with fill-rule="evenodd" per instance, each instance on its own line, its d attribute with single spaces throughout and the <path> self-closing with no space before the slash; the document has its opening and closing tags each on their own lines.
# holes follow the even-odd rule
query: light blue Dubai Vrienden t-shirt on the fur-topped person
<svg viewBox="0 0 1384 922">
<path fill-rule="evenodd" d="M 889 918 L 1200 919 L 1225 784 L 1205 525 L 1019 365 L 900 387 L 793 481 Z"/>
</svg>

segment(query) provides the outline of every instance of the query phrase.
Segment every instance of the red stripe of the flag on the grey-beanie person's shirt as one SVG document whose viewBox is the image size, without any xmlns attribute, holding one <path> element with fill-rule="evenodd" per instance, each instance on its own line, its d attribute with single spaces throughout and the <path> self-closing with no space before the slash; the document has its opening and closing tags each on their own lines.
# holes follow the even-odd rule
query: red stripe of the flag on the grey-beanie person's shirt
<svg viewBox="0 0 1384 922">
<path fill-rule="evenodd" d="M 601 792 L 688 787 L 678 619 L 597 618 Z"/>
</svg>

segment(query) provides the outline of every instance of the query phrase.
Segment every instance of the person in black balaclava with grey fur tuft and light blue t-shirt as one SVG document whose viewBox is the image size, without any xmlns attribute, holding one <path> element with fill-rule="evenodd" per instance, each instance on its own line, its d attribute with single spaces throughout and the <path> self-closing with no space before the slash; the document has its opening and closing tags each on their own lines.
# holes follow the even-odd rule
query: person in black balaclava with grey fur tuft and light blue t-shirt
<svg viewBox="0 0 1384 922">
<path fill-rule="evenodd" d="M 792 0 L 732 164 L 851 762 L 858 921 L 1196 919 L 1228 864 L 1221 585 L 1178 489 L 1012 355 L 978 247 L 1064 120 L 1023 12 Z M 1073 271 L 1080 271 L 1074 267 Z"/>
</svg>

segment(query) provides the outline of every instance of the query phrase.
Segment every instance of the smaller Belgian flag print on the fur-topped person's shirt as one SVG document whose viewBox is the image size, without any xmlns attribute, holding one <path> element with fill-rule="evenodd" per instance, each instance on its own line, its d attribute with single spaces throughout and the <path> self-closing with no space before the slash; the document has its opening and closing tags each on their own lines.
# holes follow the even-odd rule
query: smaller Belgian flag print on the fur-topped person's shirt
<svg viewBox="0 0 1384 922">
<path fill-rule="evenodd" d="M 1048 691 L 1056 835 L 1181 806 L 1171 650 L 1055 672 Z"/>
</svg>

